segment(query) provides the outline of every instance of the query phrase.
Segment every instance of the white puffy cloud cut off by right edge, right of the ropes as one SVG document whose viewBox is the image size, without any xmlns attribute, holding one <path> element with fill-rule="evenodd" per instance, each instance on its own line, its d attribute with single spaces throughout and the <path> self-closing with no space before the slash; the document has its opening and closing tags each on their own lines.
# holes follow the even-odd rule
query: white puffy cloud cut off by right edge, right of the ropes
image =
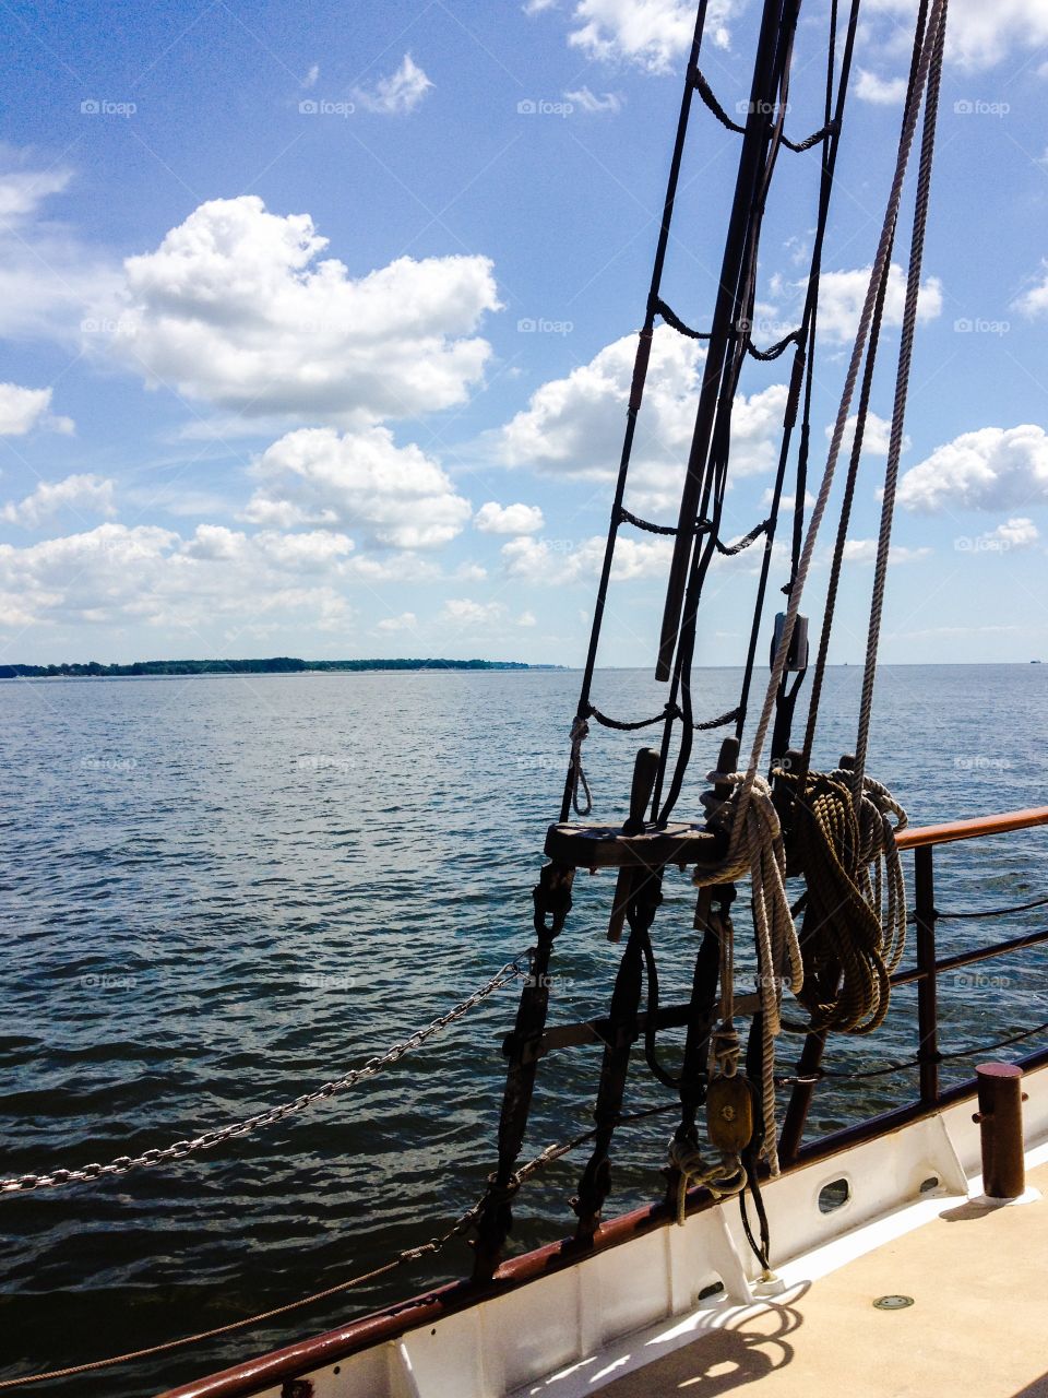
<svg viewBox="0 0 1048 1398">
<path fill-rule="evenodd" d="M 964 432 L 898 482 L 908 510 L 1007 510 L 1040 500 L 1048 500 L 1048 435 L 1031 422 Z"/>
</svg>

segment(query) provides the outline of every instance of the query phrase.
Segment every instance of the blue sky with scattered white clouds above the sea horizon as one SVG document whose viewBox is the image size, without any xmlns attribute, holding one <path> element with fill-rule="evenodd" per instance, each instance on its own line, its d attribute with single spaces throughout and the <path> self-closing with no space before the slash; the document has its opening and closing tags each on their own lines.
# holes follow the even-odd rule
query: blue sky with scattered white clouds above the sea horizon
<svg viewBox="0 0 1048 1398">
<path fill-rule="evenodd" d="M 694 24 L 683 0 L 4 0 L 0 656 L 578 665 Z M 815 482 L 898 136 L 912 6 L 865 0 L 823 261 Z M 701 67 L 749 91 L 757 0 Z M 882 658 L 1048 658 L 1048 0 L 953 0 Z M 820 122 L 801 7 L 787 130 Z M 696 103 L 664 296 L 708 323 L 739 137 Z M 784 152 L 755 340 L 799 319 Z M 862 658 L 908 232 L 831 661 Z M 626 498 L 675 521 L 703 351 L 660 326 Z M 748 365 L 724 533 L 763 519 L 788 356 Z M 836 496 L 834 496 L 836 503 Z M 805 611 L 820 612 L 833 503 Z M 787 577 L 780 526 L 774 596 Z M 736 664 L 760 545 L 696 661 Z M 599 663 L 650 665 L 623 528 Z M 770 629 L 766 619 L 764 635 Z"/>
</svg>

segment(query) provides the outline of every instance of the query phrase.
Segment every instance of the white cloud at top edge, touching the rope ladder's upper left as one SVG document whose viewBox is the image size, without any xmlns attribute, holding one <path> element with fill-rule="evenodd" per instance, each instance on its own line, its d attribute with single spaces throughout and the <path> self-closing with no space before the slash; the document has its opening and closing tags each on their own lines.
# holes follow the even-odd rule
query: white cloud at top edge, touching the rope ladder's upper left
<svg viewBox="0 0 1048 1398">
<path fill-rule="evenodd" d="M 706 15 L 708 42 L 728 46 L 727 20 L 736 8 L 732 0 L 711 0 Z M 692 48 L 694 6 L 690 0 L 578 0 L 572 22 L 576 28 L 567 42 L 587 59 L 667 73 Z"/>
</svg>

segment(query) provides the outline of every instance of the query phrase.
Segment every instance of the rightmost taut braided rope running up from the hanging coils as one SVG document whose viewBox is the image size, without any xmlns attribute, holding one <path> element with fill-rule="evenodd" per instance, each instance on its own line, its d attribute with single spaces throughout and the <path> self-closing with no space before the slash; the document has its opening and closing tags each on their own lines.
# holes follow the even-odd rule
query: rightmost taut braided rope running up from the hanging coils
<svg viewBox="0 0 1048 1398">
<path fill-rule="evenodd" d="M 885 468 L 885 495 L 880 506 L 880 531 L 878 534 L 878 558 L 873 569 L 873 597 L 869 610 L 869 632 L 866 636 L 866 663 L 862 672 L 862 700 L 859 705 L 859 730 L 855 742 L 854 790 L 862 790 L 862 776 L 866 770 L 866 747 L 869 742 L 869 720 L 873 707 L 873 681 L 878 670 L 878 647 L 880 643 L 880 619 L 885 610 L 885 587 L 887 584 L 887 561 L 891 547 L 891 517 L 896 507 L 896 484 L 898 481 L 898 459 L 903 453 L 903 425 L 905 421 L 907 391 L 910 387 L 910 366 L 914 356 L 914 333 L 917 330 L 917 305 L 921 289 L 921 264 L 924 260 L 925 229 L 928 226 L 928 203 L 932 186 L 932 162 L 935 158 L 935 122 L 939 110 L 939 77 L 942 73 L 943 45 L 946 42 L 946 6 L 936 6 L 929 22 L 932 53 L 928 67 L 928 96 L 921 137 L 921 159 L 917 173 L 917 196 L 914 204 L 914 232 L 910 243 L 910 270 L 905 284 L 905 306 L 903 329 L 898 341 L 898 370 L 896 373 L 896 398 L 891 408 L 891 433 Z M 926 46 L 925 41 L 925 46 Z"/>
</svg>

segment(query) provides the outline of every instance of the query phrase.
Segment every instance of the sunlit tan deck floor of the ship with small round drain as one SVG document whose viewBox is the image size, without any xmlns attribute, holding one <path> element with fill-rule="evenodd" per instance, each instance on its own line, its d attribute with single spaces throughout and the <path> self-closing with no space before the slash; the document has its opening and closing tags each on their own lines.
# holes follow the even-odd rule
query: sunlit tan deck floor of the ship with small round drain
<svg viewBox="0 0 1048 1398">
<path fill-rule="evenodd" d="M 601 1398 L 1048 1398 L 1048 1166 L 1027 1183 L 1045 1198 L 947 1208 Z M 873 1307 L 894 1293 L 914 1304 Z"/>
</svg>

